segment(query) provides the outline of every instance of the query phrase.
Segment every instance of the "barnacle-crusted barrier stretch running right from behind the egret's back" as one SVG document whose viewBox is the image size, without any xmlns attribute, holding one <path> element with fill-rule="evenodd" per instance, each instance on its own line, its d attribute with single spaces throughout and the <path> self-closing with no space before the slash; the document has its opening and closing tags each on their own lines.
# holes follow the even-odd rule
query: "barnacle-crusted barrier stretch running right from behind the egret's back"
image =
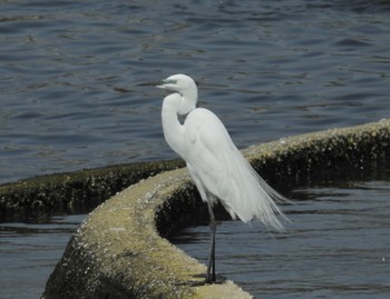
<svg viewBox="0 0 390 299">
<path fill-rule="evenodd" d="M 384 166 L 390 120 L 280 139 L 251 147 L 244 155 L 276 186 L 354 179 Z"/>
</svg>

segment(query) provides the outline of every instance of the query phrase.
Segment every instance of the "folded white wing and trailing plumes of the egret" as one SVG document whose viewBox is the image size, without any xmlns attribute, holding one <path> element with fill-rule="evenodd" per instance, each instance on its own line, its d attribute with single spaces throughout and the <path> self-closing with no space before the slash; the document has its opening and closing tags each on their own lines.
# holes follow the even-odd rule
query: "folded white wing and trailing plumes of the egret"
<svg viewBox="0 0 390 299">
<path fill-rule="evenodd" d="M 282 229 L 274 199 L 283 199 L 250 166 L 221 120 L 206 109 L 187 116 L 185 133 L 188 170 L 202 192 L 216 197 L 233 218 L 253 218 Z M 203 190 L 202 190 L 203 189 Z M 207 200 L 207 198 L 203 198 Z"/>
</svg>

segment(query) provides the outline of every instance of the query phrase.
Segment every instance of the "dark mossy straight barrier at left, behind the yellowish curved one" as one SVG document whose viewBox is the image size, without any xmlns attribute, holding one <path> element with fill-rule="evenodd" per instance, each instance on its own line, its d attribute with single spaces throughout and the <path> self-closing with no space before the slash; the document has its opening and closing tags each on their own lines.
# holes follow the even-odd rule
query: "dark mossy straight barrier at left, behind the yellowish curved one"
<svg viewBox="0 0 390 299">
<path fill-rule="evenodd" d="M 183 166 L 182 160 L 118 165 L 2 185 L 0 221 L 89 212 L 140 179 Z"/>
</svg>

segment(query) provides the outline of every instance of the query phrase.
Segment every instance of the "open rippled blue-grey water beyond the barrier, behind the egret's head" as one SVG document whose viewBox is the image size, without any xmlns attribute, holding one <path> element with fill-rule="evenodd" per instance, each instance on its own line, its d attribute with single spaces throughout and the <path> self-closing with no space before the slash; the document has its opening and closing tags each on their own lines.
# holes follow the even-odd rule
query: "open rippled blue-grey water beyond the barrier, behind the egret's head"
<svg viewBox="0 0 390 299">
<path fill-rule="evenodd" d="M 176 158 L 177 72 L 240 148 L 389 117 L 387 1 L 1 1 L 0 183 Z"/>
</svg>

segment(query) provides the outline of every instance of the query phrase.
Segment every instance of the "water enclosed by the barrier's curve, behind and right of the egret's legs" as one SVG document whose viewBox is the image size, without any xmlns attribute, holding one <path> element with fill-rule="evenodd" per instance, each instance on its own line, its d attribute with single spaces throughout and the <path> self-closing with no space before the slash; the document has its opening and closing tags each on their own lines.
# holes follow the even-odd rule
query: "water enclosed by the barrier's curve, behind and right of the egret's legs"
<svg viewBox="0 0 390 299">
<path fill-rule="evenodd" d="M 217 271 L 256 298 L 389 298 L 389 181 L 295 190 L 285 233 L 224 221 Z M 207 261 L 209 228 L 186 229 L 176 245 Z"/>
</svg>

